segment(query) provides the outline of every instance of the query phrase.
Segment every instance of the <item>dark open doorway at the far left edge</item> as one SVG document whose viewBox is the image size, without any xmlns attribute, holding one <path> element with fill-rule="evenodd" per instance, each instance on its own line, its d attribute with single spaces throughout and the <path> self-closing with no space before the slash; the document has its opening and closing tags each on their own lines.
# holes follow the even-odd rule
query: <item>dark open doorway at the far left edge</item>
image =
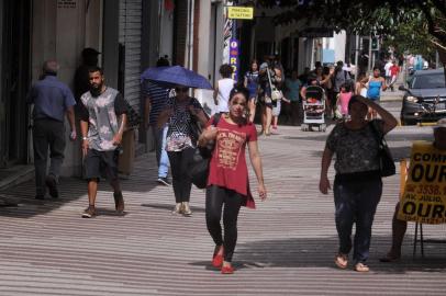
<svg viewBox="0 0 446 296">
<path fill-rule="evenodd" d="M 0 114 L 0 167 L 27 161 L 27 105 L 30 87 L 31 1 L 3 1 L 2 8 L 2 71 Z"/>
</svg>

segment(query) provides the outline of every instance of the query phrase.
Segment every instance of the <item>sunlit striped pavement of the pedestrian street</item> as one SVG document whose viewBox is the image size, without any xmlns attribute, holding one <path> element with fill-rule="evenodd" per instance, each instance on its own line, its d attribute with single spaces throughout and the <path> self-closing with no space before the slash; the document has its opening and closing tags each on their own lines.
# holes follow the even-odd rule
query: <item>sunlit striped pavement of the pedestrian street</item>
<svg viewBox="0 0 446 296">
<path fill-rule="evenodd" d="M 398 116 L 400 102 L 384 105 Z M 234 275 L 210 264 L 203 191 L 192 190 L 192 217 L 172 216 L 172 189 L 157 185 L 155 157 L 146 153 L 123 181 L 123 217 L 105 182 L 93 219 L 80 218 L 88 203 L 78 179 L 62 180 L 57 201 L 35 201 L 32 181 L 3 192 L 21 203 L 0 208 L 0 295 L 444 295 L 446 246 L 426 243 L 425 258 L 420 251 L 413 258 L 414 224 L 401 262 L 378 260 L 390 247 L 399 174 L 384 179 L 371 271 L 336 269 L 333 194 L 317 189 L 327 133 L 290 126 L 277 133 L 259 139 L 269 196 L 256 210 L 242 209 Z M 408 157 L 411 143 L 431 134 L 432 127 L 397 127 L 388 136 L 393 157 Z M 250 181 L 256 189 L 253 171 Z M 424 236 L 444 239 L 445 227 L 424 226 Z"/>
</svg>

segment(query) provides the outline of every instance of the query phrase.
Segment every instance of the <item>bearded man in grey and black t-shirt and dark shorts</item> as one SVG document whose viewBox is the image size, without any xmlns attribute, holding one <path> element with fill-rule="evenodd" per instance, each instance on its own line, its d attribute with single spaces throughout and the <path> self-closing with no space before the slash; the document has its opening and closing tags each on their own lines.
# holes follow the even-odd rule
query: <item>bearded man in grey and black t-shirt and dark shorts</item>
<svg viewBox="0 0 446 296">
<path fill-rule="evenodd" d="M 99 67 L 89 69 L 90 91 L 80 96 L 80 130 L 85 178 L 88 180 L 88 202 L 82 217 L 96 216 L 96 195 L 100 177 L 105 174 L 113 187 L 118 214 L 124 212 L 124 198 L 118 178 L 118 155 L 127 122 L 127 107 L 121 93 L 104 84 Z"/>
</svg>

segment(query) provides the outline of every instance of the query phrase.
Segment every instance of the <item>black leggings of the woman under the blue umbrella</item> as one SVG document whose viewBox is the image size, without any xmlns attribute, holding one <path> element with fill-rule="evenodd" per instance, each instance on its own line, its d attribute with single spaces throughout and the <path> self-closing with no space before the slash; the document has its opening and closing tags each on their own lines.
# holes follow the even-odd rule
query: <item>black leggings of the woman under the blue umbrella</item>
<svg viewBox="0 0 446 296">
<path fill-rule="evenodd" d="M 189 202 L 192 181 L 188 174 L 188 166 L 194 153 L 193 148 L 186 148 L 182 151 L 167 152 L 170 161 L 175 202 Z"/>
</svg>

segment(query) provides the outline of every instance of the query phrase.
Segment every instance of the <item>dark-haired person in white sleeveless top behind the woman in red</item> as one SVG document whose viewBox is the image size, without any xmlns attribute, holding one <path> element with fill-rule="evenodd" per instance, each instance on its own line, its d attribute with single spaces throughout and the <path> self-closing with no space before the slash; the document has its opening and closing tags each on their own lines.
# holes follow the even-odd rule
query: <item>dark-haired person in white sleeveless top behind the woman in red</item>
<svg viewBox="0 0 446 296">
<path fill-rule="evenodd" d="M 216 105 L 216 113 L 227 113 L 227 101 L 230 99 L 231 90 L 234 88 L 235 81 L 231 78 L 233 69 L 230 65 L 223 64 L 220 67 L 220 75 L 222 79 L 216 82 L 214 90 L 214 103 Z"/>
</svg>

